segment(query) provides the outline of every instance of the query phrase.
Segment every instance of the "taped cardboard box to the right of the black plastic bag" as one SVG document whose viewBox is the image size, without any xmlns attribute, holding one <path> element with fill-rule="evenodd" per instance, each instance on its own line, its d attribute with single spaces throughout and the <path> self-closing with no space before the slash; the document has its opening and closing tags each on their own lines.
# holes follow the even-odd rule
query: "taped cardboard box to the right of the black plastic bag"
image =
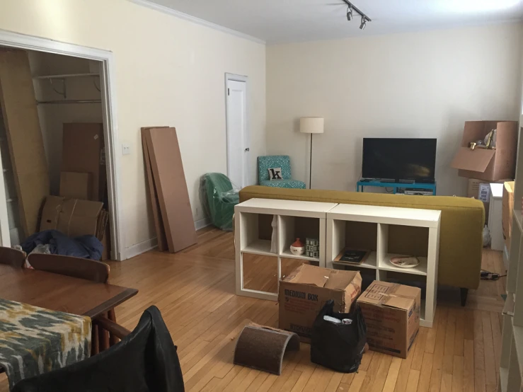
<svg viewBox="0 0 523 392">
<path fill-rule="evenodd" d="M 420 329 L 421 289 L 374 280 L 357 304 L 370 349 L 406 358 Z"/>
</svg>

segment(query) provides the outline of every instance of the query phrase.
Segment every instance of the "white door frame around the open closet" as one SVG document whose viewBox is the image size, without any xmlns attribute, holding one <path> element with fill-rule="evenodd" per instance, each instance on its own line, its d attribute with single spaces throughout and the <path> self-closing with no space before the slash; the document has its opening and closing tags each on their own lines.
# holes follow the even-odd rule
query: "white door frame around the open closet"
<svg viewBox="0 0 523 392">
<path fill-rule="evenodd" d="M 101 62 L 100 67 L 100 90 L 102 98 L 103 128 L 105 140 L 105 162 L 108 177 L 108 198 L 110 209 L 110 233 L 111 233 L 111 259 L 125 259 L 125 233 L 122 230 L 123 212 L 121 200 L 120 184 L 120 154 L 117 154 L 119 145 L 117 114 L 116 114 L 116 93 L 115 93 L 115 59 L 113 52 L 108 50 L 93 49 L 80 45 L 69 44 L 38 38 L 32 35 L 13 33 L 0 29 L 0 45 L 16 47 L 24 50 L 35 50 L 37 52 L 47 52 L 62 54 L 82 59 L 96 60 Z M 1 161 L 0 161 L 1 170 Z M 7 219 L 7 205 L 5 199 L 4 176 L 0 176 L 0 217 Z M 4 224 L 6 219 L 0 219 L 0 241 L 2 244 L 10 243 L 8 224 Z M 6 232 L 7 229 L 7 232 Z M 6 242 L 7 241 L 7 242 Z"/>
</svg>

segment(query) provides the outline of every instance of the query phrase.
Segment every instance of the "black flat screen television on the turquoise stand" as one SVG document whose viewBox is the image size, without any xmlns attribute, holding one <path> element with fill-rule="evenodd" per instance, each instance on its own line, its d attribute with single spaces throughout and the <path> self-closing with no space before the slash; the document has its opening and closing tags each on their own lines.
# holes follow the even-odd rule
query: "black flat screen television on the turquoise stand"
<svg viewBox="0 0 523 392">
<path fill-rule="evenodd" d="M 363 178 L 433 182 L 436 139 L 363 139 Z"/>
</svg>

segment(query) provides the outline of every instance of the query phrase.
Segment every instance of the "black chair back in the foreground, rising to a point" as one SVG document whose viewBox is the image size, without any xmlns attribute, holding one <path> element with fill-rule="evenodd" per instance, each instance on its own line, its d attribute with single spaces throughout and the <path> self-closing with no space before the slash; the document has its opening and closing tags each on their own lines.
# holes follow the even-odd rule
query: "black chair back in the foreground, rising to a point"
<svg viewBox="0 0 523 392">
<path fill-rule="evenodd" d="M 12 392 L 183 392 L 176 346 L 156 306 L 130 335 L 84 361 L 18 382 Z"/>
</svg>

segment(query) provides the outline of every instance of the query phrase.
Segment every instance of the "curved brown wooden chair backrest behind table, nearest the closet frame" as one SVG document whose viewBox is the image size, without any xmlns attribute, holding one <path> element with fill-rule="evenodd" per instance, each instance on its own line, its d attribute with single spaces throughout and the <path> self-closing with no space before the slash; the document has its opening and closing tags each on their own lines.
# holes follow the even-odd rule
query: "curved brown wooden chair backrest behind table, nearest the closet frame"
<svg viewBox="0 0 523 392">
<path fill-rule="evenodd" d="M 53 272 L 54 274 L 79 277 L 98 283 L 107 283 L 109 279 L 109 266 L 96 260 L 31 253 L 28 256 L 28 262 L 35 270 Z"/>
</svg>

